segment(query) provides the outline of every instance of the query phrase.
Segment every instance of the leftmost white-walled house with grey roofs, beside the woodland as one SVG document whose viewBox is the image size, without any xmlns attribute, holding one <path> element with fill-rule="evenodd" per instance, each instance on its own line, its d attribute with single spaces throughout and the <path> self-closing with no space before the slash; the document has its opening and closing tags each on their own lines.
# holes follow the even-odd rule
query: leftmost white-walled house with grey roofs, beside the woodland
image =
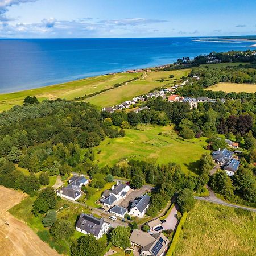
<svg viewBox="0 0 256 256">
<path fill-rule="evenodd" d="M 82 196 L 81 187 L 88 184 L 89 180 L 84 176 L 73 176 L 68 180 L 67 187 L 57 190 L 57 195 L 65 199 L 76 201 Z"/>
</svg>

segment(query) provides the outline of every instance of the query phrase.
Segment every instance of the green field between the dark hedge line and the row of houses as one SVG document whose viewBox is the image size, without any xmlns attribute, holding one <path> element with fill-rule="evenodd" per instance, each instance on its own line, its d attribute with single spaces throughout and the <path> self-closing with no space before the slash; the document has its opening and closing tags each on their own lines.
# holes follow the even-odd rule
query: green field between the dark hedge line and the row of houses
<svg viewBox="0 0 256 256">
<path fill-rule="evenodd" d="M 187 76 L 190 69 L 182 69 L 179 71 L 153 71 L 147 72 L 142 79 L 130 82 L 107 92 L 96 96 L 86 98 L 86 102 L 90 102 L 98 107 L 113 106 L 123 101 L 131 100 L 135 96 L 150 92 L 150 90 L 160 86 L 173 86 L 182 76 Z M 169 79 L 170 75 L 174 75 L 174 79 Z M 164 82 L 155 81 L 164 79 Z"/>
</svg>

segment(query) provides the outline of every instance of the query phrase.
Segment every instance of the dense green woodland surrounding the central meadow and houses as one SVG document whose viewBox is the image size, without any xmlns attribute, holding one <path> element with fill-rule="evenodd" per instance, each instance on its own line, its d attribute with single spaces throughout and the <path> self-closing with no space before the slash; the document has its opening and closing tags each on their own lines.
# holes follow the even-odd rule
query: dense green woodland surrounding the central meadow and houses
<svg viewBox="0 0 256 256">
<path fill-rule="evenodd" d="M 250 51 L 243 55 L 239 52 L 211 53 L 193 61 L 188 58 L 178 60 L 179 65 L 175 64 L 175 67 L 195 66 L 216 59 L 221 62 L 256 60 Z M 159 97 L 142 103 L 150 109 L 139 113 L 118 110 L 110 114 L 99 112 L 96 106 L 85 102 L 46 100 L 39 103 L 35 97 L 27 97 L 23 106 L 14 106 L 0 114 L 0 185 L 36 196 L 32 213 L 35 216 L 43 214 L 43 224 L 51 227 L 49 232 L 56 241 L 71 237 L 73 224 L 57 219 L 57 197 L 53 189 L 39 189 L 40 185 L 49 184 L 50 176 L 60 175 L 67 180 L 71 171 L 92 177 L 92 183 L 83 188 L 88 199 L 95 189 L 112 182 L 114 176 L 129 179 L 133 188 L 153 184 L 155 191 L 151 194 L 147 212 L 152 217 L 157 216 L 172 197 L 177 200 L 181 212 L 191 210 L 195 204 L 193 195 L 203 192 L 206 184 L 226 200 L 256 207 L 256 94 L 204 90 L 220 81 L 254 83 L 255 70 L 253 65 L 193 69 L 189 81 L 194 75 L 200 80 L 179 88 L 176 93 L 184 97 L 217 99 L 216 103 L 199 104 L 197 109 Z M 225 103 L 219 100 L 221 98 L 225 98 Z M 226 147 L 224 138 L 233 139 L 240 143 L 243 151 L 240 168 L 232 178 L 222 170 L 210 176 L 209 171 L 214 165 L 210 154 L 204 154 L 197 163 L 197 175 L 185 175 L 175 163 L 155 165 L 129 160 L 103 168 L 93 164 L 94 146 L 106 137 L 124 137 L 126 129 L 138 129 L 140 123 L 174 125 L 183 140 L 208 137 L 210 150 Z M 27 169 L 28 174 L 23 174 L 17 167 Z M 36 175 L 38 172 L 40 175 Z M 110 234 L 112 244 L 127 246 L 129 229 L 114 230 Z M 123 237 L 122 242 L 118 237 Z M 92 250 L 86 250 L 91 254 L 85 254 L 84 246 L 92 247 Z M 71 254 L 94 255 L 96 251 L 103 253 L 105 247 L 105 242 L 96 241 L 92 236 L 81 237 L 71 246 Z"/>
</svg>

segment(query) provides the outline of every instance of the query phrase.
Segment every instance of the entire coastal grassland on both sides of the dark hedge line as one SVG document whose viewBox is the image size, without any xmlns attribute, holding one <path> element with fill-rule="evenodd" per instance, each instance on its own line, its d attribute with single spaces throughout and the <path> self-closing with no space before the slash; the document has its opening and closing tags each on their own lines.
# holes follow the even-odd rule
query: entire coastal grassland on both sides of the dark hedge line
<svg viewBox="0 0 256 256">
<path fill-rule="evenodd" d="M 90 97 L 85 101 L 102 106 L 112 106 L 125 100 L 130 100 L 139 94 L 148 93 L 150 90 L 167 84 L 174 85 L 177 79 L 187 76 L 189 69 L 182 71 L 153 71 L 143 73 L 116 73 L 113 75 L 89 77 L 63 84 L 45 86 L 41 88 L 23 90 L 20 92 L 0 94 L 0 112 L 8 110 L 14 105 L 22 105 L 26 96 L 36 96 L 39 101 L 46 99 L 56 100 L 57 98 L 65 98 L 73 100 L 76 97 L 85 96 L 104 89 L 111 89 L 107 92 Z M 175 75 L 174 79 L 168 79 L 169 75 Z M 121 87 L 114 88 L 114 84 L 122 83 L 138 77 L 139 80 L 129 82 Z M 166 81 L 155 81 L 164 78 Z"/>
</svg>

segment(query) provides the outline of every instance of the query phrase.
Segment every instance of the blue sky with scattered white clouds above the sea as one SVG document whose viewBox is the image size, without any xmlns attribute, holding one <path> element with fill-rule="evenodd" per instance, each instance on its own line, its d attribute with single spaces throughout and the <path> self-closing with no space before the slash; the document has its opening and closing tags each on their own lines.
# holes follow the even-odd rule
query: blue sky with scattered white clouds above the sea
<svg viewBox="0 0 256 256">
<path fill-rule="evenodd" d="M 256 34 L 255 0 L 0 0 L 0 37 Z"/>
</svg>

